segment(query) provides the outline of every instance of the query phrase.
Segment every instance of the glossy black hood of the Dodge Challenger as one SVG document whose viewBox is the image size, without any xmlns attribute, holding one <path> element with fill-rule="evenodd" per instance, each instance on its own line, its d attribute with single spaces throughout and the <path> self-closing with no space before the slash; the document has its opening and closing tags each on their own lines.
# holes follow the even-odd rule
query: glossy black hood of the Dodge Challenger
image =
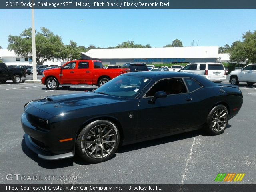
<svg viewBox="0 0 256 192">
<path fill-rule="evenodd" d="M 63 94 L 39 98 L 29 102 L 35 108 L 38 108 L 48 114 L 59 115 L 61 112 L 68 112 L 79 108 L 87 108 L 99 105 L 105 105 L 113 102 L 122 102 L 124 98 L 107 96 L 93 92 Z M 26 108 L 25 108 L 26 110 Z"/>
</svg>

